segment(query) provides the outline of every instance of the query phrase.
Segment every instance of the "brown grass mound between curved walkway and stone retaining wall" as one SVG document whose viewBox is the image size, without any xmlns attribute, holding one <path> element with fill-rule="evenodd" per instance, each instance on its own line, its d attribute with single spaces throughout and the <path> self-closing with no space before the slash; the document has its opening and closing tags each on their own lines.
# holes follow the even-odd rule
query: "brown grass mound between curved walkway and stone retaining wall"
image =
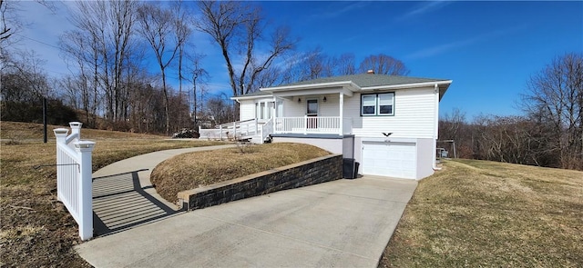
<svg viewBox="0 0 583 268">
<path fill-rule="evenodd" d="M 175 203 L 182 191 L 330 154 L 308 144 L 246 146 L 177 155 L 160 163 L 150 180 L 162 197 Z"/>
</svg>

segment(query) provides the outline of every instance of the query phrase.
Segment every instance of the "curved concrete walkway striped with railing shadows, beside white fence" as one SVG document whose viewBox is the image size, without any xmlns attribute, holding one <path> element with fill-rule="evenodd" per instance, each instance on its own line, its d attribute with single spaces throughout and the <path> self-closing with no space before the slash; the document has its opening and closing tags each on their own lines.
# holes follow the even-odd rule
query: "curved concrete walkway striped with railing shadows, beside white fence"
<svg viewBox="0 0 583 268">
<path fill-rule="evenodd" d="M 163 199 L 149 181 L 156 165 L 189 152 L 216 150 L 234 145 L 165 150 L 131 157 L 93 174 L 93 219 L 97 236 L 116 233 L 180 213 Z"/>
</svg>

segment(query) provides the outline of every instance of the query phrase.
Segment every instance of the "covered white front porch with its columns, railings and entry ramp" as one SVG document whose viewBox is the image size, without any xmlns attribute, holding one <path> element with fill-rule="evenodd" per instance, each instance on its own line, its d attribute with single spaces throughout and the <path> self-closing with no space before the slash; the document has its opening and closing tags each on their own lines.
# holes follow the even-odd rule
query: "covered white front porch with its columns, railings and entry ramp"
<svg viewBox="0 0 583 268">
<path fill-rule="evenodd" d="M 353 134 L 353 118 L 344 116 L 344 98 L 358 87 L 352 82 L 270 87 L 233 97 L 240 103 L 240 121 L 200 129 L 200 137 L 252 140 L 263 143 L 271 134 Z"/>
</svg>

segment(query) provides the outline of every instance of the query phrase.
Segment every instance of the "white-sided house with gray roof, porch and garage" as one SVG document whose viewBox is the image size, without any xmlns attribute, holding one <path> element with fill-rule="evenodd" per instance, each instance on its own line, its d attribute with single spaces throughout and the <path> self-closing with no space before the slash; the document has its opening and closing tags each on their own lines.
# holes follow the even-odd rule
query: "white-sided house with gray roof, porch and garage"
<svg viewBox="0 0 583 268">
<path fill-rule="evenodd" d="M 435 170 L 439 101 L 451 83 L 353 74 L 233 99 L 240 103 L 240 122 L 254 124 L 249 134 L 256 142 L 269 137 L 313 144 L 354 159 L 360 174 L 422 179 Z"/>
</svg>

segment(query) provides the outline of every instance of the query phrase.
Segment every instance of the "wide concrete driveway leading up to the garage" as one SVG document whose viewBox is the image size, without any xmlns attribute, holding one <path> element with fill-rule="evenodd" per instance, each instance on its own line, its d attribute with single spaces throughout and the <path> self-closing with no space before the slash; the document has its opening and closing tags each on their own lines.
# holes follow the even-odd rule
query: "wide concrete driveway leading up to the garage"
<svg viewBox="0 0 583 268">
<path fill-rule="evenodd" d="M 417 183 L 364 176 L 224 203 L 77 246 L 96 267 L 376 267 Z"/>
</svg>

